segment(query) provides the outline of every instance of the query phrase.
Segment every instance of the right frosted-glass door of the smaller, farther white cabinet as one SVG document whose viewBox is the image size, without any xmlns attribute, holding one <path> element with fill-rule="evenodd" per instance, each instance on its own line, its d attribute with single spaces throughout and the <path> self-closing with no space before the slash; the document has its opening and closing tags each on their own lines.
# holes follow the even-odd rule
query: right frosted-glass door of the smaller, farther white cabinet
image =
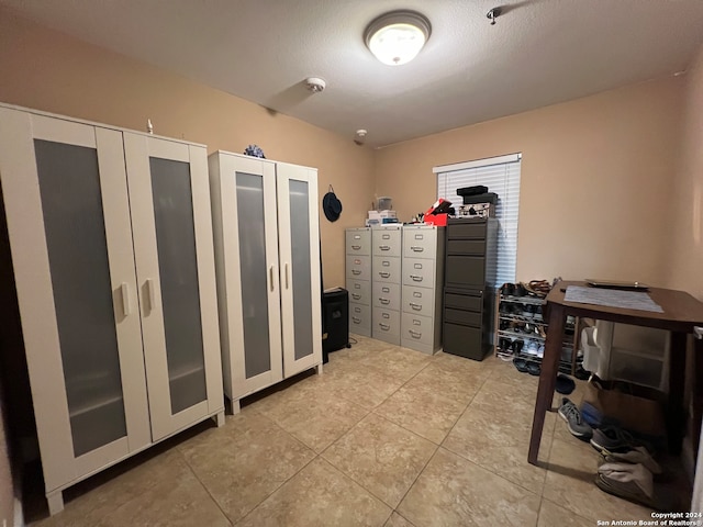
<svg viewBox="0 0 703 527">
<path fill-rule="evenodd" d="M 283 372 L 322 362 L 317 172 L 277 164 Z"/>
</svg>

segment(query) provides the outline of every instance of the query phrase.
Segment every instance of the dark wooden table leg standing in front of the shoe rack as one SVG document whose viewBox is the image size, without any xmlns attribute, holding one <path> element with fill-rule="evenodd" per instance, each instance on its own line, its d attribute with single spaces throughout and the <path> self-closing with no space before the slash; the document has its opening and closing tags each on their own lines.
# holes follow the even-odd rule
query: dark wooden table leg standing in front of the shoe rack
<svg viewBox="0 0 703 527">
<path fill-rule="evenodd" d="M 539 388 L 535 401 L 535 414 L 532 418 L 532 436 L 529 437 L 529 453 L 527 461 L 537 464 L 542 430 L 545 426 L 545 415 L 551 408 L 554 388 L 559 372 L 559 358 L 561 357 L 561 343 L 563 341 L 565 312 L 561 305 L 549 306 L 549 327 L 547 329 L 547 343 L 545 356 L 542 359 L 542 373 L 539 374 Z"/>
</svg>

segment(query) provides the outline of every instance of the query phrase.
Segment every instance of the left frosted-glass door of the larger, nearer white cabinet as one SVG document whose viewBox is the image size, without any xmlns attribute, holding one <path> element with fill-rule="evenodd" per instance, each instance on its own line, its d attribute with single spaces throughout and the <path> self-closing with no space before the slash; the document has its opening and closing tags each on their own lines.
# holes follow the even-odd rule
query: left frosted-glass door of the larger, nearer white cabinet
<svg viewBox="0 0 703 527">
<path fill-rule="evenodd" d="M 150 441 L 122 134 L 0 109 L 47 494 Z"/>
</svg>

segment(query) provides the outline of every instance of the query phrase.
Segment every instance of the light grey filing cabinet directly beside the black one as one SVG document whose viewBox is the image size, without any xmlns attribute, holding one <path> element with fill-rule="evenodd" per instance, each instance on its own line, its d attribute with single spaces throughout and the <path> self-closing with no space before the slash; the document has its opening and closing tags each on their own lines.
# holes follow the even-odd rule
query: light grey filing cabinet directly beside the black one
<svg viewBox="0 0 703 527">
<path fill-rule="evenodd" d="M 402 254 L 401 345 L 432 355 L 442 347 L 445 227 L 405 225 Z"/>
</svg>

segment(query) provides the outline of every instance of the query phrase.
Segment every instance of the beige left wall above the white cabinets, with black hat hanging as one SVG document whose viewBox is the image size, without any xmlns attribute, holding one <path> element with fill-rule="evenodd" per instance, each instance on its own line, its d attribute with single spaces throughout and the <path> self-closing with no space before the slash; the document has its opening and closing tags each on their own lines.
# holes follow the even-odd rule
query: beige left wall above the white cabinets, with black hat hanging
<svg viewBox="0 0 703 527">
<path fill-rule="evenodd" d="M 332 184 L 344 205 L 335 223 L 321 211 L 324 282 L 344 285 L 343 231 L 362 224 L 373 199 L 371 149 L 2 8 L 0 101 L 133 130 L 150 119 L 156 134 L 203 143 L 210 153 L 255 143 L 269 159 L 316 167 L 320 199 Z"/>
</svg>

